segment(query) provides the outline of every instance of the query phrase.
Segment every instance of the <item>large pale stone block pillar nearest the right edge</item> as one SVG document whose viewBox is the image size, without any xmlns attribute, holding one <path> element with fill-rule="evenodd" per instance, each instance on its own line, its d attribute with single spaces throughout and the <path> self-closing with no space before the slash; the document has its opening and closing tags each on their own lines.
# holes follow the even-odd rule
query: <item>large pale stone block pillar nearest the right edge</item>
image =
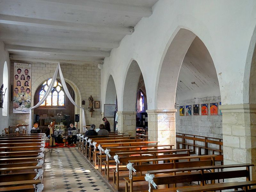
<svg viewBox="0 0 256 192">
<path fill-rule="evenodd" d="M 256 164 L 256 104 L 221 105 L 224 164 Z M 252 178 L 256 179 L 255 166 Z"/>
</svg>

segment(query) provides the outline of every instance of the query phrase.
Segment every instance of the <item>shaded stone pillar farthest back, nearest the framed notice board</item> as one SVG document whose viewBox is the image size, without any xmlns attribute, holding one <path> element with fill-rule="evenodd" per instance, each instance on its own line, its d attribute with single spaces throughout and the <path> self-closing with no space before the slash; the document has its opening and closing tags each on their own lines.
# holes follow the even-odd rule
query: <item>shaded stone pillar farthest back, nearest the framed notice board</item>
<svg viewBox="0 0 256 192">
<path fill-rule="evenodd" d="M 117 111 L 118 131 L 136 136 L 136 111 Z"/>
</svg>

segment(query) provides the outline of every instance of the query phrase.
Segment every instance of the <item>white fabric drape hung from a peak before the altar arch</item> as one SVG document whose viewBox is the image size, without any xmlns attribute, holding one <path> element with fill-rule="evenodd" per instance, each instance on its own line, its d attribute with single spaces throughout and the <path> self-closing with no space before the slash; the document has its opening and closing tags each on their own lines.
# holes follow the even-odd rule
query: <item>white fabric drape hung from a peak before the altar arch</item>
<svg viewBox="0 0 256 192">
<path fill-rule="evenodd" d="M 71 103 L 73 105 L 75 105 L 76 107 L 78 108 L 81 108 L 82 109 L 82 120 L 83 120 L 83 129 L 80 129 L 81 131 L 85 130 L 85 125 L 86 125 L 86 121 L 85 121 L 85 113 L 84 113 L 84 108 L 83 107 L 80 107 L 78 106 L 75 101 L 72 99 L 70 93 L 68 92 L 68 88 L 67 88 L 67 85 L 65 83 L 65 80 L 64 80 L 64 77 L 63 77 L 63 74 L 62 74 L 62 71 L 61 71 L 61 68 L 60 68 L 60 63 L 58 63 L 57 65 L 57 68 L 52 76 L 52 81 L 47 89 L 47 91 L 45 92 L 44 94 L 44 97 L 34 106 L 34 107 L 31 107 L 29 108 L 29 131 L 31 131 L 32 129 L 32 109 L 34 108 L 37 108 L 39 107 L 48 97 L 48 95 L 50 94 L 50 92 L 52 91 L 52 88 L 53 88 L 53 85 L 55 83 L 55 80 L 57 79 L 57 75 L 58 75 L 58 71 L 59 71 L 59 74 L 60 74 L 60 82 L 62 84 L 62 87 L 64 89 L 64 92 L 66 93 L 68 99 L 71 101 Z"/>
</svg>

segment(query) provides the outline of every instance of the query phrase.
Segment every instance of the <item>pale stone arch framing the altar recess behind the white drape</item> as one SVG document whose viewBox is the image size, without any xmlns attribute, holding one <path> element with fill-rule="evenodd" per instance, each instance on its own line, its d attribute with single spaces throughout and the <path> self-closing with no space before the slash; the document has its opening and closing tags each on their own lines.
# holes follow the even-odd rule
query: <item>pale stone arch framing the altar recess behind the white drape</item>
<svg viewBox="0 0 256 192">
<path fill-rule="evenodd" d="M 37 78 L 33 83 L 32 83 L 32 90 L 31 90 L 31 103 L 34 103 L 34 95 L 37 90 L 37 88 L 47 79 L 52 78 L 54 72 L 51 73 L 46 73 L 40 78 Z M 82 103 L 82 95 L 85 97 L 85 90 L 83 85 L 76 79 L 76 77 L 71 76 L 70 74 L 62 72 L 65 81 L 68 82 L 68 84 L 72 87 L 72 89 L 75 92 L 75 102 L 78 106 L 81 105 Z M 84 110 L 86 111 L 86 110 Z M 75 106 L 75 114 L 80 114 L 82 115 L 82 109 L 77 108 Z M 82 127 L 82 121 L 79 122 L 79 127 Z"/>
</svg>

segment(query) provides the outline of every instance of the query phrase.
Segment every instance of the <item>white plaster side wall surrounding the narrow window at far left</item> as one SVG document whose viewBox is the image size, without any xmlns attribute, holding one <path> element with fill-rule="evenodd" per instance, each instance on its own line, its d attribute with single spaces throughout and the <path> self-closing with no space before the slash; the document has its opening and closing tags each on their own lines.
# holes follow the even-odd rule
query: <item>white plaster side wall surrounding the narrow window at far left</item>
<svg viewBox="0 0 256 192">
<path fill-rule="evenodd" d="M 3 71 L 4 71 L 4 62 L 7 62 L 8 67 L 8 76 L 9 76 L 9 82 L 10 82 L 10 59 L 9 59 L 9 53 L 4 50 L 4 43 L 0 41 L 0 86 L 3 84 Z M 6 74 L 4 74 L 6 75 Z M 8 85 L 4 85 L 4 90 L 8 86 L 8 90 L 10 90 L 10 83 Z M 8 100 L 8 108 L 9 108 L 9 101 L 10 96 L 5 97 L 4 100 Z M 7 113 L 9 114 L 9 113 Z M 2 108 L 0 108 L 0 134 L 4 132 L 4 128 L 8 128 L 9 126 L 9 115 L 3 116 Z"/>
</svg>

